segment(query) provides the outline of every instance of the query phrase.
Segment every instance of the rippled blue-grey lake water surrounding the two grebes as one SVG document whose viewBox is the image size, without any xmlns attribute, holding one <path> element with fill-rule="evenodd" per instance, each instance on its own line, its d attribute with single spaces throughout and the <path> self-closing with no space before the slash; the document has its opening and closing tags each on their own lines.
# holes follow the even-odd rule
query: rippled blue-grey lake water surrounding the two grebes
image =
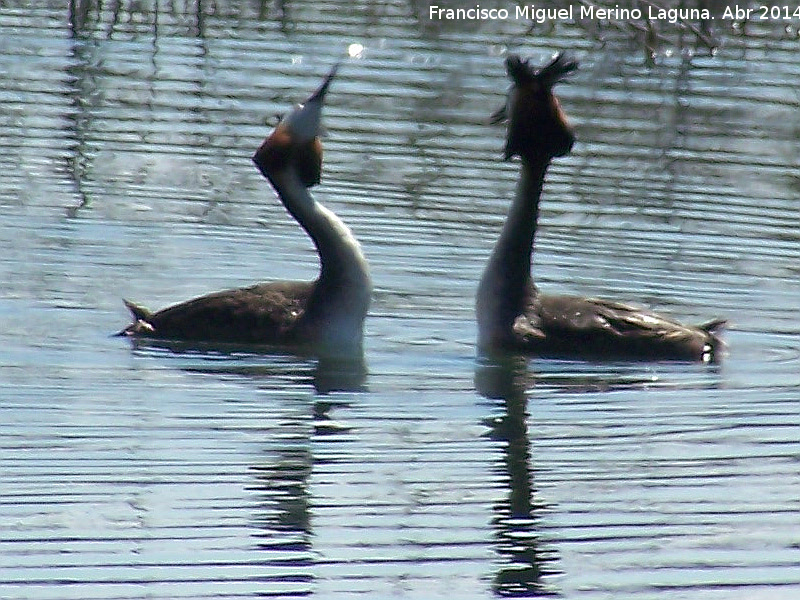
<svg viewBox="0 0 800 600">
<path fill-rule="evenodd" d="M 800 596 L 799 19 L 29 4 L 0 4 L 0 597 Z M 367 373 L 110 337 L 122 297 L 314 277 L 250 156 L 352 44 L 316 193 L 371 262 Z M 726 317 L 718 367 L 475 359 L 503 57 L 562 49 L 536 279 Z"/>
</svg>

